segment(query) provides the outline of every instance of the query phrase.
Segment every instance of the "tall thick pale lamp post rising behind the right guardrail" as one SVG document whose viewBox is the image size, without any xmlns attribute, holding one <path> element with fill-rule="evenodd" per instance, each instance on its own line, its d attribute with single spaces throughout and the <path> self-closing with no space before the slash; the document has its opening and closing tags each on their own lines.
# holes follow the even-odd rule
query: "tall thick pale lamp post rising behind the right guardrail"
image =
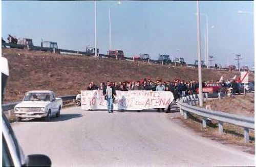
<svg viewBox="0 0 256 167">
<path fill-rule="evenodd" d="M 203 107 L 199 1 L 197 1 L 197 46 L 198 46 L 198 47 L 197 47 L 197 52 L 198 52 L 199 106 L 200 106 L 200 107 Z"/>
</svg>

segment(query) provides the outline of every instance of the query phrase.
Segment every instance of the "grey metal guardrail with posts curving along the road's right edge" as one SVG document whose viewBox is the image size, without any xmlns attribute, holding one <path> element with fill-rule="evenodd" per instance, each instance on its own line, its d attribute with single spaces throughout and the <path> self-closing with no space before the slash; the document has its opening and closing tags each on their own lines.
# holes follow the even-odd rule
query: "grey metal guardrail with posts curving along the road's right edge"
<svg viewBox="0 0 256 167">
<path fill-rule="evenodd" d="M 230 114 L 222 111 L 212 111 L 212 110 L 192 106 L 193 101 L 190 102 L 191 100 L 189 101 L 186 101 L 186 100 L 187 98 L 184 98 L 181 101 L 179 101 L 177 104 L 180 107 L 181 115 L 183 115 L 185 119 L 187 119 L 188 113 L 195 113 L 197 115 L 203 116 L 202 124 L 204 128 L 206 128 L 207 126 L 206 123 L 208 118 L 212 120 L 216 120 L 219 122 L 218 125 L 219 125 L 220 134 L 223 134 L 223 123 L 229 123 L 229 124 L 243 127 L 245 142 L 249 142 L 249 129 L 254 129 L 254 117 Z M 184 101 L 190 102 L 191 105 L 184 103 Z"/>
</svg>

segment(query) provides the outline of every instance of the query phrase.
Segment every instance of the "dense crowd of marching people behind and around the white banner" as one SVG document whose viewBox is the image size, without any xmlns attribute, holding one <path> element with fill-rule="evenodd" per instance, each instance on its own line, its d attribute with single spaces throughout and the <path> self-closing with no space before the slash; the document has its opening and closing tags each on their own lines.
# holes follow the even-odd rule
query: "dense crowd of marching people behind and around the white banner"
<svg viewBox="0 0 256 167">
<path fill-rule="evenodd" d="M 212 81 L 213 82 L 213 81 Z M 217 81 L 220 83 L 220 91 L 226 93 L 228 88 L 233 89 L 233 93 L 238 89 L 238 83 L 234 80 Z M 205 87 L 207 82 L 202 82 L 202 86 Z M 174 102 L 177 99 L 185 97 L 189 94 L 197 93 L 199 82 L 195 80 L 184 81 L 184 80 L 173 80 L 165 81 L 156 80 L 155 82 L 151 79 L 143 79 L 140 81 L 124 81 L 124 82 L 110 82 L 107 81 L 100 83 L 99 86 L 95 85 L 94 82 L 90 82 L 87 90 L 103 90 L 105 100 L 108 101 L 108 111 L 113 112 L 113 99 L 116 95 L 116 90 L 129 91 L 129 90 L 152 90 L 152 91 L 171 91 L 174 95 Z"/>
</svg>

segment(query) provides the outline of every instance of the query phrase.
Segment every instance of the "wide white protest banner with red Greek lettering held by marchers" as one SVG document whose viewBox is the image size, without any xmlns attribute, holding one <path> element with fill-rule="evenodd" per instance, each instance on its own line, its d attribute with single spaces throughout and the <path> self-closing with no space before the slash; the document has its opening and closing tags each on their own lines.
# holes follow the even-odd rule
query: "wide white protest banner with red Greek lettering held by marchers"
<svg viewBox="0 0 256 167">
<path fill-rule="evenodd" d="M 145 110 L 168 108 L 174 100 L 170 91 L 131 90 L 116 91 L 114 110 Z M 106 110 L 102 90 L 81 90 L 81 108 L 83 110 Z"/>
</svg>

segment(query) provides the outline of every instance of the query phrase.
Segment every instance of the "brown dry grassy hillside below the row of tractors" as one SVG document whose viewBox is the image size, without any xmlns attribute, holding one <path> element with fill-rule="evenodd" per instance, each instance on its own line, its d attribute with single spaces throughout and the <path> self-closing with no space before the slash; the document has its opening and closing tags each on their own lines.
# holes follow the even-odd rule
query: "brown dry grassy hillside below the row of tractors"
<svg viewBox="0 0 256 167">
<path fill-rule="evenodd" d="M 198 69 L 173 67 L 115 59 L 95 59 L 87 56 L 55 55 L 46 52 L 2 49 L 9 61 L 10 77 L 5 101 L 22 100 L 29 90 L 53 90 L 57 96 L 76 94 L 86 89 L 90 81 L 97 85 L 106 80 L 131 81 L 151 76 L 153 80 L 197 80 Z M 231 79 L 238 72 L 202 70 L 204 81 Z M 250 80 L 254 75 L 250 74 Z"/>
</svg>

